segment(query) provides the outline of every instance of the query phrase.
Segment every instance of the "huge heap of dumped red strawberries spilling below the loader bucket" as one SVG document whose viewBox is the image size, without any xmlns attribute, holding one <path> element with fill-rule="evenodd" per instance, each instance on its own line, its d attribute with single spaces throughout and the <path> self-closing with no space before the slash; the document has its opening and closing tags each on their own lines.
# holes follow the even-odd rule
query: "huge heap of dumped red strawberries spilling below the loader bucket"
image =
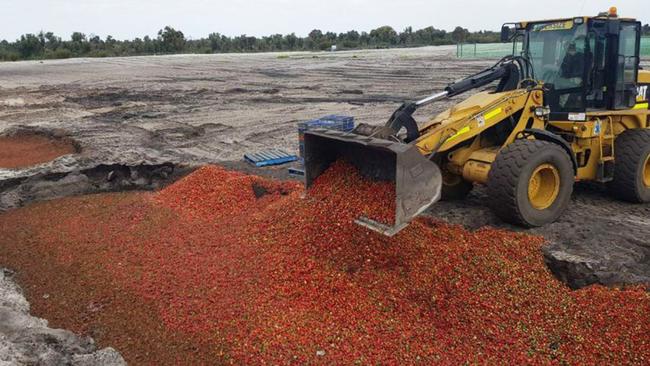
<svg viewBox="0 0 650 366">
<path fill-rule="evenodd" d="M 214 351 L 193 354 L 200 363 L 650 362 L 645 288 L 571 291 L 544 265 L 538 237 L 420 218 L 387 238 L 353 223 L 389 222 L 392 191 L 342 163 L 308 195 L 295 182 L 204 167 L 155 194 L 0 216 L 0 260 L 105 274 L 67 301 L 120 289 L 169 334 Z M 53 214 L 51 225 L 30 224 Z M 43 257 L 21 253 L 26 241 Z M 146 363 L 120 334 L 109 328 L 100 342 Z M 142 337 L 157 334 L 143 324 Z"/>
</svg>

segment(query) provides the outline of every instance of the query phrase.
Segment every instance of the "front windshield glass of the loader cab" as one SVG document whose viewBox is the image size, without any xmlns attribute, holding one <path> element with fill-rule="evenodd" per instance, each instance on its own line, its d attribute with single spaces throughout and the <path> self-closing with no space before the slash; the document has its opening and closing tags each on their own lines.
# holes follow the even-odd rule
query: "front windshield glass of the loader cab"
<svg viewBox="0 0 650 366">
<path fill-rule="evenodd" d="M 585 75 L 587 25 L 573 20 L 535 23 L 528 29 L 524 53 L 535 78 L 556 90 L 581 87 Z"/>
</svg>

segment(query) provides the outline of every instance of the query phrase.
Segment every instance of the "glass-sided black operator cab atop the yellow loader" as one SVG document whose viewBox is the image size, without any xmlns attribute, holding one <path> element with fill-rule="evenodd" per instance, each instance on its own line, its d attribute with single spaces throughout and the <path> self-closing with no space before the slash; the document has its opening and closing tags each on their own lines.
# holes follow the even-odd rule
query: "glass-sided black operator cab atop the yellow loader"
<svg viewBox="0 0 650 366">
<path fill-rule="evenodd" d="M 615 14 L 520 23 L 522 54 L 552 114 L 635 104 L 641 23 Z"/>
</svg>

